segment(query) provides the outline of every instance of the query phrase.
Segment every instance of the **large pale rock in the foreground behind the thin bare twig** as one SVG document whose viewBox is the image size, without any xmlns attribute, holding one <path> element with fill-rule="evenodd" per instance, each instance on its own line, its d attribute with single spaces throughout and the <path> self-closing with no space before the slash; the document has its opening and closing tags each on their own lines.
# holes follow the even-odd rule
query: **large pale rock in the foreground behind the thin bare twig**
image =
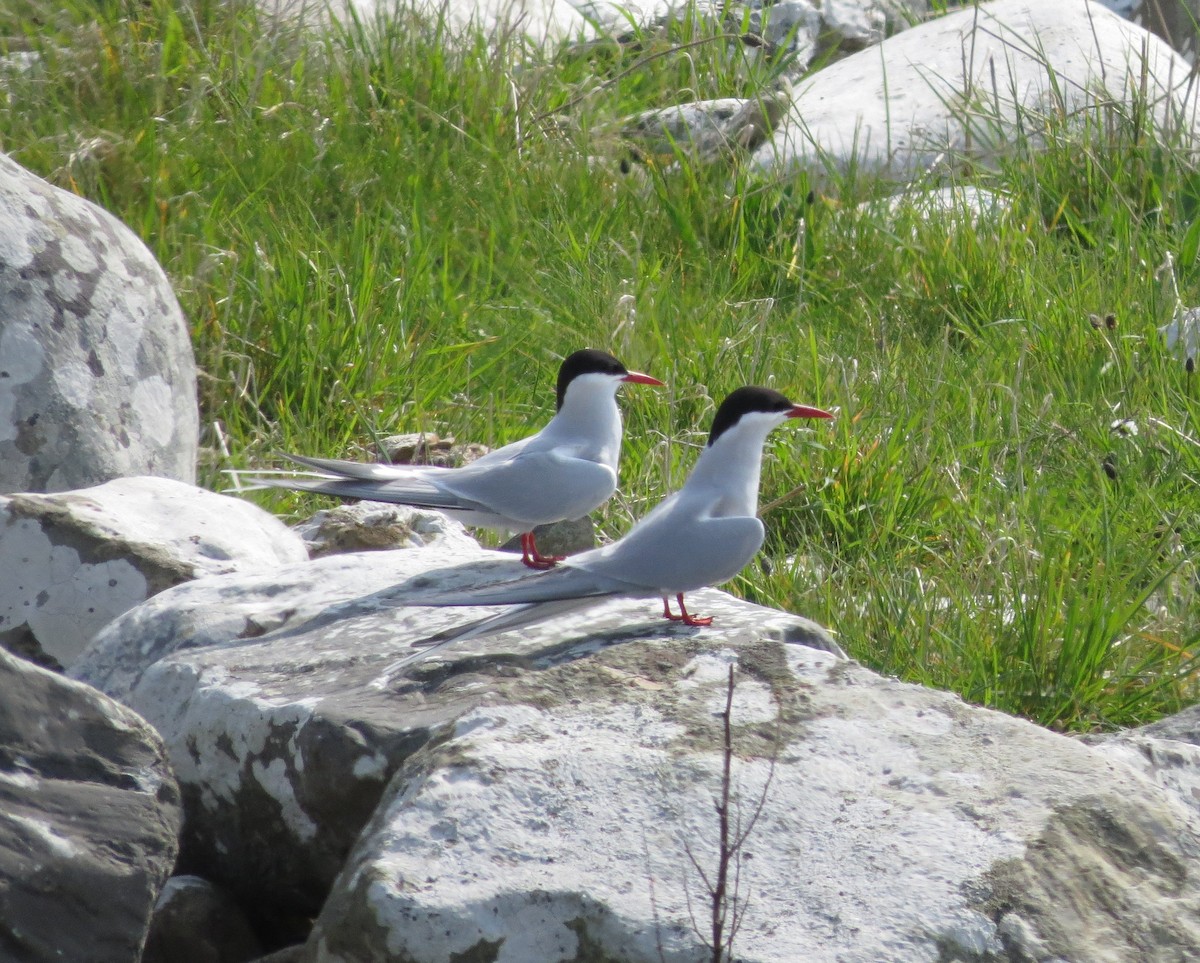
<svg viewBox="0 0 1200 963">
<path fill-rule="evenodd" d="M 490 689 L 401 766 L 306 963 L 710 959 L 726 788 L 728 958 L 1200 956 L 1194 815 L 1078 740 L 707 633 Z"/>
</svg>

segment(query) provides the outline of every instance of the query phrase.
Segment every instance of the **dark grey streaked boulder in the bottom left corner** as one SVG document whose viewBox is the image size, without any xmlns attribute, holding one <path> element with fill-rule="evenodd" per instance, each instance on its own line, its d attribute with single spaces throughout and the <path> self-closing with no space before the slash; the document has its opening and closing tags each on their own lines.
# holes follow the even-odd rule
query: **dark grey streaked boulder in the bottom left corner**
<svg viewBox="0 0 1200 963">
<path fill-rule="evenodd" d="M 143 719 L 0 651 L 0 956 L 137 959 L 180 818 Z"/>
</svg>

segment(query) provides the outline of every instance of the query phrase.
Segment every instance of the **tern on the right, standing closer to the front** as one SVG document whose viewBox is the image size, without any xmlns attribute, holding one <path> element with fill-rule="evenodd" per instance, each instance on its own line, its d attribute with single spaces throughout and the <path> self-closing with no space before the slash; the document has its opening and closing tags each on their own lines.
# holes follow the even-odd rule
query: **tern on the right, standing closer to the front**
<svg viewBox="0 0 1200 963">
<path fill-rule="evenodd" d="M 414 599 L 407 605 L 511 605 L 505 612 L 448 629 L 420 645 L 391 669 L 427 658 L 466 639 L 493 635 L 582 609 L 606 598 L 662 599 L 662 615 L 685 626 L 713 620 L 690 614 L 688 592 L 737 575 L 762 546 L 758 479 L 762 449 L 772 429 L 790 418 L 833 418 L 830 412 L 793 405 L 770 388 L 738 388 L 716 409 L 713 427 L 691 474 L 679 491 L 660 502 L 628 534 L 571 556 L 552 572 L 497 585 L 467 588 L 446 599 Z M 671 599 L 679 605 L 671 611 Z"/>
</svg>

